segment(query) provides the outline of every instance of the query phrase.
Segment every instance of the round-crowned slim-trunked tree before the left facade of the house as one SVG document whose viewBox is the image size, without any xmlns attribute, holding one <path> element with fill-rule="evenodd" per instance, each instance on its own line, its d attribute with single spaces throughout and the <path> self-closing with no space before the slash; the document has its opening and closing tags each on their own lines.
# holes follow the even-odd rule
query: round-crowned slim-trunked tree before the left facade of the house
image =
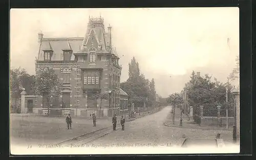
<svg viewBox="0 0 256 160">
<path fill-rule="evenodd" d="M 61 84 L 57 74 L 54 73 L 53 69 L 47 68 L 35 77 L 33 83 L 33 89 L 37 95 L 42 95 L 47 98 L 47 108 L 49 115 L 49 101 L 52 97 L 58 97 L 60 94 Z"/>
</svg>

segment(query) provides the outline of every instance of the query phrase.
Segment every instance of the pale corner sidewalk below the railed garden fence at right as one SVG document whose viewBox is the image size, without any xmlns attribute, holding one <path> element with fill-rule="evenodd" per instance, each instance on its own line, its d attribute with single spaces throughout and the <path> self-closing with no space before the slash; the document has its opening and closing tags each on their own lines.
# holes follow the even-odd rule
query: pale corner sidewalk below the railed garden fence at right
<svg viewBox="0 0 256 160">
<path fill-rule="evenodd" d="M 173 124 L 173 114 L 169 113 L 167 116 L 167 121 L 166 125 L 167 126 L 172 126 L 172 127 L 181 127 L 180 126 L 180 109 L 176 108 L 175 109 L 175 124 Z M 182 128 L 194 128 L 194 129 L 210 129 L 210 130 L 227 130 L 226 127 L 218 127 L 216 125 L 207 125 L 207 124 L 201 124 L 200 126 L 197 123 L 191 123 L 188 121 L 188 116 L 183 114 L 182 115 Z M 232 126 L 228 126 L 228 130 L 232 131 Z"/>
</svg>

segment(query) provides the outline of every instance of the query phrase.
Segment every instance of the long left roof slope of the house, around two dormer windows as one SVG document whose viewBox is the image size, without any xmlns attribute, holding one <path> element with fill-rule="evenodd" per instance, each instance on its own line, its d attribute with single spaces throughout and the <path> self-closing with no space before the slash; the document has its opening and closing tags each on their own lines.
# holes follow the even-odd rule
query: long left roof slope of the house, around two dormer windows
<svg viewBox="0 0 256 160">
<path fill-rule="evenodd" d="M 83 37 L 75 38 L 43 38 L 41 41 L 39 55 L 37 61 L 44 61 L 44 50 L 51 49 L 53 51 L 52 61 L 62 61 L 63 50 L 73 50 L 77 52 L 82 45 Z M 71 55 L 71 61 L 75 59 L 74 54 Z"/>
</svg>

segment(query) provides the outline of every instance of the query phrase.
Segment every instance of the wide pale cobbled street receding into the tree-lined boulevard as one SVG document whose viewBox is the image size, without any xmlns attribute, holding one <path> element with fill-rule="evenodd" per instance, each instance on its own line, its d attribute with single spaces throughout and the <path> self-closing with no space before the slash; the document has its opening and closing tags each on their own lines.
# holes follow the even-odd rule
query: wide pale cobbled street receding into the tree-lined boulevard
<svg viewBox="0 0 256 160">
<path fill-rule="evenodd" d="M 116 131 L 109 131 L 109 134 L 98 137 L 89 143 L 84 140 L 79 142 L 79 144 L 86 143 L 90 146 L 102 144 L 175 146 L 183 134 L 186 137 L 215 138 L 218 131 L 164 126 L 166 116 L 171 109 L 170 106 L 167 106 L 157 113 L 135 119 L 135 121 L 126 122 L 124 131 L 121 130 L 119 125 Z M 225 142 L 231 141 L 231 133 L 227 131 L 227 133 L 222 134 L 225 134 L 225 137 L 227 137 L 227 139 L 224 139 Z"/>
</svg>

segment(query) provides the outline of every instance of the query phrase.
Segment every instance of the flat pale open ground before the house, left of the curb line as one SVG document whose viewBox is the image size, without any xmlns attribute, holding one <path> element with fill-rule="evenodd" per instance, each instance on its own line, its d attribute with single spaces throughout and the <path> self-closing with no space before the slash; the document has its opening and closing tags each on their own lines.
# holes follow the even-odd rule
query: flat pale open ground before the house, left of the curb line
<svg viewBox="0 0 256 160">
<path fill-rule="evenodd" d="M 72 129 L 67 129 L 66 117 L 11 116 L 11 143 L 53 144 L 112 125 L 112 119 L 97 119 L 96 127 L 92 120 L 72 117 L 72 122 Z"/>
</svg>

